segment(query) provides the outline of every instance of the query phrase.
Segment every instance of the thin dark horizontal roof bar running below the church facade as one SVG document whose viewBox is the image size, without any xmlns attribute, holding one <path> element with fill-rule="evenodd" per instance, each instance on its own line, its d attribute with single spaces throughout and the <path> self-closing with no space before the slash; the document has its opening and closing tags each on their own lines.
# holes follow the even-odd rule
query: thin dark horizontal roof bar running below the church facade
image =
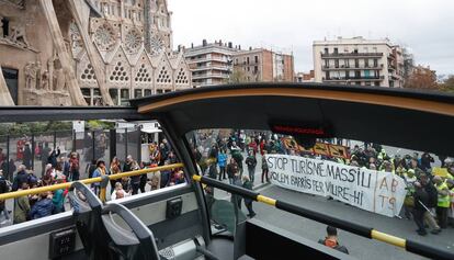
<svg viewBox="0 0 454 260">
<path fill-rule="evenodd" d="M 149 120 L 134 108 L 89 108 L 89 106 L 0 106 L 0 121 L 76 121 L 76 120 Z"/>
</svg>

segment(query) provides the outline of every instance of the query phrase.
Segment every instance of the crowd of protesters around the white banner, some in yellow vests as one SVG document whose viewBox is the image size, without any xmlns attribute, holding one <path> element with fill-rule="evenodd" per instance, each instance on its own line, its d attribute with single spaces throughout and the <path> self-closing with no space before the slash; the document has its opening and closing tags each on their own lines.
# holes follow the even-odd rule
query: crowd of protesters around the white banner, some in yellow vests
<svg viewBox="0 0 454 260">
<path fill-rule="evenodd" d="M 407 196 L 398 217 L 413 219 L 418 226 L 417 233 L 427 235 L 425 227 L 432 234 L 439 234 L 454 221 L 454 163 L 450 158 L 440 156 L 440 168 L 445 176 L 433 172 L 434 158 L 429 152 L 419 155 L 388 155 L 378 144 L 352 143 L 342 139 L 320 139 L 320 143 L 345 144 L 348 157 L 328 157 L 307 150 L 286 147 L 282 136 L 263 132 L 232 131 L 228 136 L 215 133 L 204 133 L 206 147 L 194 148 L 193 154 L 203 174 L 213 179 L 228 179 L 230 184 L 252 189 L 259 180 L 256 168 L 259 167 L 258 155 L 261 155 L 261 182 L 269 182 L 269 169 L 264 161 L 266 154 L 298 155 L 302 157 L 331 160 L 343 165 L 366 168 L 371 170 L 393 172 L 401 177 L 407 184 Z M 259 159 L 258 159 L 259 158 Z M 243 173 L 247 168 L 247 174 Z M 209 188 L 208 188 L 209 189 Z M 254 216 L 252 205 L 247 205 L 249 215 Z"/>
</svg>

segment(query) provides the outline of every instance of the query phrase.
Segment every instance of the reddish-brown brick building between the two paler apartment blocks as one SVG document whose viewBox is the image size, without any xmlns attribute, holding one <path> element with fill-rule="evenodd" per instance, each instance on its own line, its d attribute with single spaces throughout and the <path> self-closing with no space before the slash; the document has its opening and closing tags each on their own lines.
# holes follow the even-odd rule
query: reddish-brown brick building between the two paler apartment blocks
<svg viewBox="0 0 454 260">
<path fill-rule="evenodd" d="M 234 54 L 234 71 L 245 82 L 293 82 L 293 55 L 264 48 L 250 48 Z"/>
</svg>

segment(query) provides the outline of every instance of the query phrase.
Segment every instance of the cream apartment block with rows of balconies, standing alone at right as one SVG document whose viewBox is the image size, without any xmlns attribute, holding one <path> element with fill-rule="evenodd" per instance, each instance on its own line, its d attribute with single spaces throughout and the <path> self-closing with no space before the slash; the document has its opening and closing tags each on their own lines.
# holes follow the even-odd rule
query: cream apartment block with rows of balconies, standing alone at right
<svg viewBox="0 0 454 260">
<path fill-rule="evenodd" d="M 402 49 L 388 39 L 338 37 L 316 41 L 313 48 L 316 82 L 404 87 Z"/>
</svg>

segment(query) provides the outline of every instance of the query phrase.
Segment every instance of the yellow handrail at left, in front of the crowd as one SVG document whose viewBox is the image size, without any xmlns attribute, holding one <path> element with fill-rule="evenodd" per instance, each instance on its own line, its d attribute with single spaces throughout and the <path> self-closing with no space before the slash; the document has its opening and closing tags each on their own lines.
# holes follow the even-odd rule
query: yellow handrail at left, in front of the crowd
<svg viewBox="0 0 454 260">
<path fill-rule="evenodd" d="M 109 180 L 117 180 L 117 179 L 122 179 L 123 177 L 140 176 L 140 174 L 148 173 L 148 172 L 156 172 L 156 171 L 169 170 L 169 169 L 174 169 L 174 168 L 183 168 L 183 167 L 184 167 L 183 163 L 173 163 L 173 165 L 154 167 L 154 168 L 141 169 L 141 170 L 136 170 L 136 171 L 122 172 L 122 173 L 111 174 L 106 177 L 109 178 Z M 82 182 L 83 184 L 91 184 L 91 183 L 101 182 L 101 181 L 102 181 L 101 177 L 80 180 L 80 182 Z M 71 186 L 71 184 L 72 182 L 65 182 L 65 183 L 53 184 L 48 186 L 39 186 L 39 188 L 34 188 L 34 189 L 29 189 L 29 190 L 23 190 L 23 191 L 8 192 L 8 193 L 0 194 L 0 201 L 9 200 L 9 199 L 16 199 L 20 196 L 25 196 L 25 195 L 38 194 L 42 192 L 68 189 Z"/>
</svg>

